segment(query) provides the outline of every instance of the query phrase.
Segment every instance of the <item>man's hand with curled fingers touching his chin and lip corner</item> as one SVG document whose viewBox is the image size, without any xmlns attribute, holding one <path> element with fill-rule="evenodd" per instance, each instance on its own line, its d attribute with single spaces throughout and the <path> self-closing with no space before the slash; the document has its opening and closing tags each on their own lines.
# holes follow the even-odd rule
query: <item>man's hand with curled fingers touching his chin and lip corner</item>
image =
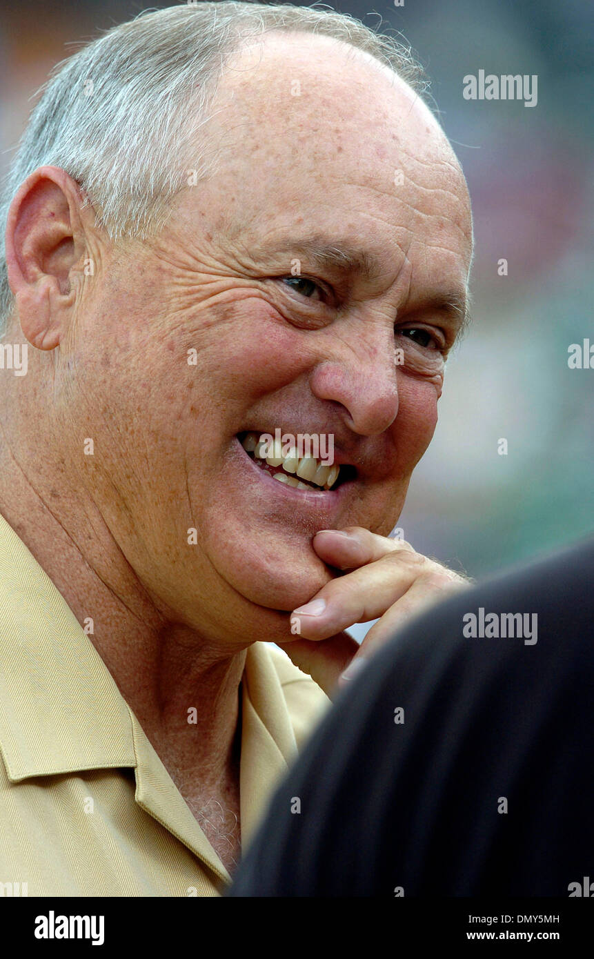
<svg viewBox="0 0 594 959">
<path fill-rule="evenodd" d="M 331 696 L 396 629 L 470 581 L 420 555 L 404 540 L 362 526 L 322 529 L 312 546 L 337 575 L 291 614 L 298 639 L 279 643 L 295 665 Z M 344 630 L 380 618 L 359 645 Z M 342 678 L 346 667 L 350 675 Z"/>
</svg>

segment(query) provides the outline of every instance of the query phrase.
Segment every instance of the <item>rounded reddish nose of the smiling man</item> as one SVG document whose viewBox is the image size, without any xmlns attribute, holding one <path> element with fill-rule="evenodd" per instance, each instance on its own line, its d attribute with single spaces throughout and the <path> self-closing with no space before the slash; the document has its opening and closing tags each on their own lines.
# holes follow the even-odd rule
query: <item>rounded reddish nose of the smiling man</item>
<svg viewBox="0 0 594 959">
<path fill-rule="evenodd" d="M 341 339 L 336 354 L 315 367 L 310 387 L 319 399 L 345 408 L 354 433 L 384 433 L 398 412 L 393 328 L 348 342 Z"/>
</svg>

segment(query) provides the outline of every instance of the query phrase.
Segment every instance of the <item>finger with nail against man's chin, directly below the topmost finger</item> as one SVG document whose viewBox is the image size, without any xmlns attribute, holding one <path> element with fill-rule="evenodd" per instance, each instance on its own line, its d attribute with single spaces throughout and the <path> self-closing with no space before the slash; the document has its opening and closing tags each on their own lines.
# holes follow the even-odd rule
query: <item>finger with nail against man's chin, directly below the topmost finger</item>
<svg viewBox="0 0 594 959">
<path fill-rule="evenodd" d="M 440 573 L 424 556 L 414 551 L 391 552 L 369 566 L 332 579 L 310 602 L 291 614 L 292 625 L 308 640 L 323 640 L 352 626 L 383 616 L 410 589 L 426 566 L 429 580 L 437 581 Z"/>
</svg>

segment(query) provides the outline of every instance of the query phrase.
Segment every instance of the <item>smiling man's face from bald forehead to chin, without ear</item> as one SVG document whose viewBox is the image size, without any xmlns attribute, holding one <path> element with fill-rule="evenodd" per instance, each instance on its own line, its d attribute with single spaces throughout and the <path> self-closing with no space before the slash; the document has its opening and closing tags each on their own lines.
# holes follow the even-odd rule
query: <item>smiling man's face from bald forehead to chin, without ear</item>
<svg viewBox="0 0 594 959">
<path fill-rule="evenodd" d="M 283 642 L 274 611 L 331 575 L 312 535 L 396 523 L 461 324 L 469 204 L 427 108 L 334 40 L 244 50 L 215 109 L 216 175 L 156 239 L 98 254 L 60 345 L 60 409 L 158 608 L 228 643 Z M 276 429 L 333 434 L 336 488 L 260 468 L 241 440 Z"/>
</svg>

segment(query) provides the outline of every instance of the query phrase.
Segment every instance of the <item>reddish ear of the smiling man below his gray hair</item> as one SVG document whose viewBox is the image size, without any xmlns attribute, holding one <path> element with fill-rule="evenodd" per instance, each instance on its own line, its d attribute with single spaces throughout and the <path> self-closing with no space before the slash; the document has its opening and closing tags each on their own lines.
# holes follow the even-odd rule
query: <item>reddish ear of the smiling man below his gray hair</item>
<svg viewBox="0 0 594 959">
<path fill-rule="evenodd" d="M 59 167 L 39 167 L 12 199 L 6 232 L 9 283 L 32 346 L 53 350 L 75 302 L 71 269 L 83 256 L 79 185 Z"/>
</svg>

